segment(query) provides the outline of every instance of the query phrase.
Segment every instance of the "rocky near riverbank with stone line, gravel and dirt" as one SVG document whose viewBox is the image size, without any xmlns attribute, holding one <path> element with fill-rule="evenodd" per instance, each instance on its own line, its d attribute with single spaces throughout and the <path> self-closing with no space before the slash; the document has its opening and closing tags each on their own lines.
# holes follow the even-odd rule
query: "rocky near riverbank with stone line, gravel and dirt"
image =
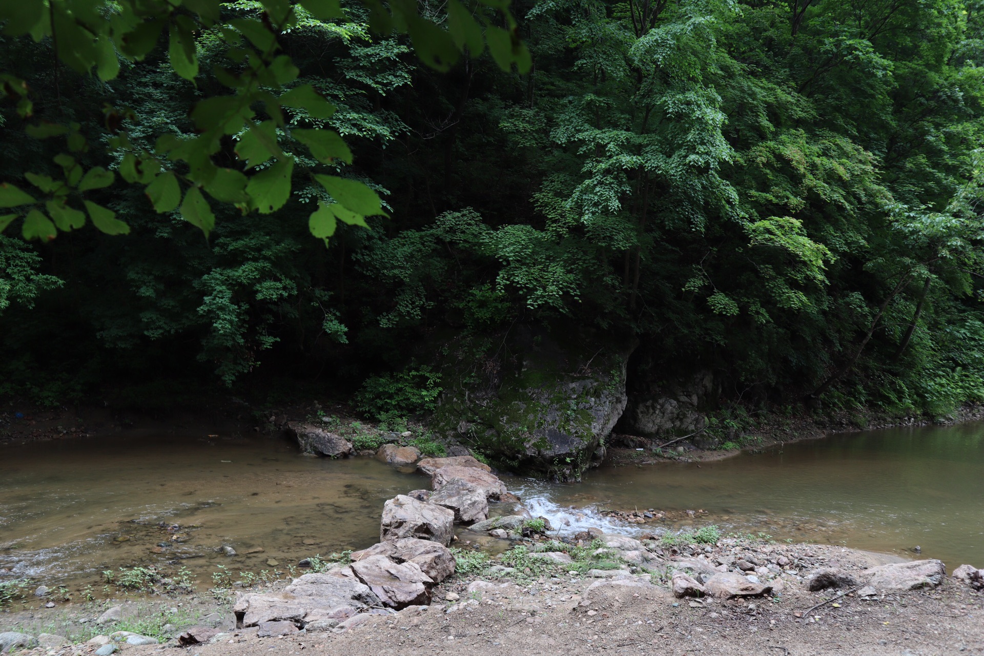
<svg viewBox="0 0 984 656">
<path fill-rule="evenodd" d="M 244 591 L 209 622 L 186 618 L 158 636 L 118 630 L 134 615 L 121 605 L 76 618 L 102 630 L 72 643 L 39 630 L 53 626 L 43 622 L 54 606 L 39 591 L 38 609 L 3 616 L 3 626 L 20 630 L 0 634 L 0 650 L 915 655 L 981 653 L 984 645 L 984 571 L 974 567 L 948 577 L 935 560 L 741 540 L 709 526 L 642 540 L 598 529 L 550 539 L 545 518 L 524 512 L 474 458 L 425 458 L 417 467 L 432 489 L 387 502 L 378 544 L 344 562 L 309 561 L 315 571 L 284 585 Z"/>
</svg>

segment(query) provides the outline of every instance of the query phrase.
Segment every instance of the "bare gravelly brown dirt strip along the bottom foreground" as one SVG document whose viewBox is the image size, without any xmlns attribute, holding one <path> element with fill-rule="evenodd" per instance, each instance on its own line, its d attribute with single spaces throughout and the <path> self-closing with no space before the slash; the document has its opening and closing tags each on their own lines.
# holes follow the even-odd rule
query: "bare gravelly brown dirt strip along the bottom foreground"
<svg viewBox="0 0 984 656">
<path fill-rule="evenodd" d="M 739 546 L 739 551 L 747 547 Z M 295 632 L 260 637 L 257 627 L 233 628 L 228 605 L 217 608 L 224 631 L 214 644 L 183 652 L 168 644 L 122 645 L 122 656 L 326 654 L 722 654 L 724 656 L 936 656 L 984 654 L 984 592 L 947 578 L 935 589 L 859 598 L 849 590 L 809 592 L 802 575 L 813 567 L 857 571 L 897 561 L 892 557 L 823 545 L 762 545 L 756 553 L 786 556 L 799 573 L 774 579 L 770 596 L 735 600 L 676 599 L 665 583 L 638 577 L 591 577 L 559 567 L 538 578 L 454 576 L 434 589 L 429 607 L 395 615 L 359 616 L 365 623 L 344 632 Z M 700 553 L 700 552 L 698 552 Z M 681 554 L 680 557 L 687 557 Z M 667 558 L 671 557 L 667 554 Z M 788 567 L 787 567 L 788 568 Z M 659 581 L 653 579 L 654 583 Z M 450 600 L 449 600 L 450 599 Z M 177 600 L 160 600 L 167 606 Z M 216 610 L 208 595 L 184 599 L 195 618 Z M 191 603 L 189 603 L 191 602 Z M 826 603 L 825 603 L 826 602 Z M 73 605 L 59 609 L 72 614 Z M 83 611 L 77 605 L 76 615 Z M 0 630 L 39 626 L 45 609 L 0 616 Z M 137 614 L 153 612 L 149 607 Z M 20 617 L 18 617 L 20 616 Z M 214 626 L 215 626 L 214 625 Z M 111 631 L 106 627 L 104 632 Z M 96 645 L 38 648 L 31 656 L 90 656 Z"/>
</svg>

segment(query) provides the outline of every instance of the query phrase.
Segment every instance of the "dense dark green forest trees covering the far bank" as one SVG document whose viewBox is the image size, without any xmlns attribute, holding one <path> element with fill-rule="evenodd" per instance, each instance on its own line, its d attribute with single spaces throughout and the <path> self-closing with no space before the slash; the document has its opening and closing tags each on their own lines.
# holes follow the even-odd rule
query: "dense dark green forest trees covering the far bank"
<svg viewBox="0 0 984 656">
<path fill-rule="evenodd" d="M 213 195 L 205 241 L 188 212 L 158 214 L 141 185 L 100 174 L 106 185 L 72 198 L 92 196 L 128 235 L 25 245 L 8 228 L 8 391 L 214 372 L 226 385 L 266 373 L 350 394 L 376 375 L 367 412 L 415 412 L 433 399 L 381 404 L 387 386 L 410 383 L 387 372 L 433 359 L 456 331 L 521 322 L 635 333 L 743 402 L 945 414 L 984 399 L 976 0 L 523 0 L 510 10 L 524 73 L 495 51 L 437 70 L 413 54 L 426 38 L 370 30 L 375 6 L 298 14 L 276 34 L 296 67 L 284 85 L 335 107 L 316 124 L 303 112 L 271 124 L 296 162 L 278 209 L 242 213 Z M 216 25 L 263 24 L 257 7 L 224 5 Z M 444 10 L 417 7 L 444 30 Z M 449 33 L 463 33 L 455 20 Z M 195 84 L 165 61 L 163 36 L 142 61 L 124 48 L 111 78 L 53 70 L 49 36 L 2 36 L 0 56 L 27 81 L 31 121 L 77 124 L 83 168 L 129 180 L 104 103 L 136 151 L 155 152 L 161 134 L 201 139 L 193 108 L 230 67 L 217 33 L 194 32 Z M 55 140 L 24 133 L 22 94 L 4 93 L 0 180 L 63 176 L 41 170 Z M 303 126 L 352 156 L 319 157 Z M 214 165 L 245 180 L 245 137 L 230 130 Z M 174 165 L 187 204 L 198 186 L 186 164 Z M 326 249 L 309 217 L 335 192 L 300 173 L 318 166 L 371 187 L 389 218 L 338 222 Z"/>
</svg>

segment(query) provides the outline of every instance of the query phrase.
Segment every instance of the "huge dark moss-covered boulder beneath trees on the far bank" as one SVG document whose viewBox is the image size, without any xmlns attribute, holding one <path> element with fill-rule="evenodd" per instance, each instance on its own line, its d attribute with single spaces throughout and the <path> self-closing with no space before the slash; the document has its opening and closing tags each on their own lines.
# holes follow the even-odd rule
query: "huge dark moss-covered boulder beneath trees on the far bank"
<svg viewBox="0 0 984 656">
<path fill-rule="evenodd" d="M 625 409 L 635 343 L 569 327 L 458 337 L 443 348 L 435 427 L 505 468 L 578 480 Z"/>
</svg>

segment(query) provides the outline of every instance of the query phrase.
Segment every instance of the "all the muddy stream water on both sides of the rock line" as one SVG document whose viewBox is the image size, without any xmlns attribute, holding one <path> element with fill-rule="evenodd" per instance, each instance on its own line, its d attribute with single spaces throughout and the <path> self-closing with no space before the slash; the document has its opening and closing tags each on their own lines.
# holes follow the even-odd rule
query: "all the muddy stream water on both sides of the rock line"
<svg viewBox="0 0 984 656">
<path fill-rule="evenodd" d="M 534 515 L 652 530 L 607 507 L 671 512 L 681 524 L 776 540 L 908 551 L 953 569 L 984 566 L 984 425 L 890 429 L 787 445 L 717 462 L 601 467 L 584 483 L 504 477 Z M 383 503 L 427 479 L 373 458 L 305 457 L 271 439 L 128 436 L 0 450 L 0 580 L 80 589 L 129 566 L 285 570 L 377 541 Z M 237 556 L 228 557 L 223 546 Z M 274 565 L 270 565 L 274 563 Z"/>
</svg>

